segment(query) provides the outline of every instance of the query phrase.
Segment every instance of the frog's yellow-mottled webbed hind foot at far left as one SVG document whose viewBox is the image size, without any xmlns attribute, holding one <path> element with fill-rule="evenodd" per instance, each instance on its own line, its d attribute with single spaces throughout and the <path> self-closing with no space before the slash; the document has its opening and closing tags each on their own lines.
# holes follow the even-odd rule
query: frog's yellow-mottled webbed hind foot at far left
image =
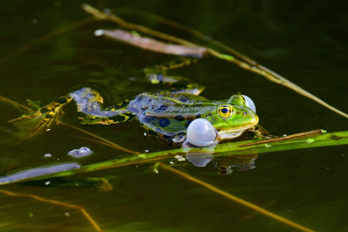
<svg viewBox="0 0 348 232">
<path fill-rule="evenodd" d="M 37 112 L 10 120 L 21 131 L 22 137 L 43 134 L 55 122 L 58 123 L 62 117 L 62 106 L 71 102 L 69 95 L 57 98 Z"/>
</svg>

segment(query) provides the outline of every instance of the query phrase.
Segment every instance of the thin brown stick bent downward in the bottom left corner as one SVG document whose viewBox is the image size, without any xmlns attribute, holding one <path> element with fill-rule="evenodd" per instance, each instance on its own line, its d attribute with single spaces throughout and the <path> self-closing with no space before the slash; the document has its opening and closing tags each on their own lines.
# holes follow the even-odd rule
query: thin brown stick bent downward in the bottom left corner
<svg viewBox="0 0 348 232">
<path fill-rule="evenodd" d="M 83 208 L 82 206 L 72 205 L 72 204 L 69 204 L 69 203 L 56 201 L 56 200 L 49 200 L 49 199 L 45 199 L 45 198 L 42 198 L 42 197 L 39 197 L 39 196 L 33 195 L 33 194 L 13 193 L 13 192 L 6 191 L 6 190 L 0 190 L 0 192 L 4 193 L 6 195 L 9 195 L 9 196 L 29 197 L 29 198 L 32 198 L 32 199 L 35 199 L 35 200 L 41 201 L 41 202 L 47 202 L 47 203 L 51 203 L 51 204 L 54 204 L 54 205 L 60 205 L 60 206 L 68 207 L 68 208 L 78 209 L 87 218 L 87 220 L 90 222 L 90 224 L 92 224 L 92 226 L 94 227 L 95 231 L 102 231 L 102 229 L 99 227 L 99 225 L 94 221 L 94 219 L 87 213 L 85 208 Z"/>
</svg>

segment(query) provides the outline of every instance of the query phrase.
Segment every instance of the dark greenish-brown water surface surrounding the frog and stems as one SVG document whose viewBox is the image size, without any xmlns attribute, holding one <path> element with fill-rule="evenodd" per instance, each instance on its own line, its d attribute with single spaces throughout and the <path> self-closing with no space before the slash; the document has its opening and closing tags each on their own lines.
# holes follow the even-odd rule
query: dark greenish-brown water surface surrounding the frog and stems
<svg viewBox="0 0 348 232">
<path fill-rule="evenodd" d="M 111 8 L 130 22 L 212 46 L 139 13 L 129 14 L 129 9 L 148 11 L 195 28 L 348 112 L 348 16 L 338 3 L 87 2 L 99 9 Z M 42 106 L 80 87 L 92 87 L 100 91 L 106 105 L 115 104 L 143 91 L 158 90 L 158 86 L 144 81 L 141 70 L 174 58 L 94 37 L 97 29 L 117 27 L 108 22 L 94 21 L 38 40 L 87 18 L 78 1 L 9 1 L 0 3 L 0 12 L 0 95 L 22 104 L 31 99 L 40 101 Z M 207 58 L 173 73 L 206 86 L 202 96 L 208 99 L 226 99 L 237 92 L 250 96 L 261 125 L 274 135 L 316 128 L 348 129 L 347 119 L 340 115 L 218 59 Z M 72 137 L 85 135 L 62 125 L 17 143 L 17 130 L 7 121 L 24 112 L 6 103 L 0 103 L 0 107 L 2 175 L 54 164 L 86 165 L 125 153 Z M 64 107 L 64 112 L 63 122 L 127 149 L 168 149 L 155 136 L 145 137 L 136 120 L 108 127 L 84 127 L 79 125 L 74 104 Z M 80 159 L 68 156 L 69 151 L 80 147 L 89 147 L 93 154 Z M 229 175 L 218 174 L 213 162 L 196 167 L 185 161 L 186 165 L 177 168 L 310 229 L 348 231 L 347 148 L 345 145 L 259 154 L 256 168 Z M 43 158 L 46 153 L 52 157 Z M 169 164 L 169 160 L 164 162 Z M 55 187 L 41 182 L 4 185 L 0 189 L 80 205 L 104 231 L 295 231 L 266 216 L 252 214 L 252 210 L 169 171 L 159 168 L 155 174 L 153 165 L 145 163 L 73 176 L 77 178 L 75 182 L 81 177 L 108 179 L 112 190 L 106 192 L 83 188 L 82 184 Z M 69 217 L 64 215 L 66 212 Z M 0 193 L 0 231 L 94 230 L 78 210 Z"/>
</svg>

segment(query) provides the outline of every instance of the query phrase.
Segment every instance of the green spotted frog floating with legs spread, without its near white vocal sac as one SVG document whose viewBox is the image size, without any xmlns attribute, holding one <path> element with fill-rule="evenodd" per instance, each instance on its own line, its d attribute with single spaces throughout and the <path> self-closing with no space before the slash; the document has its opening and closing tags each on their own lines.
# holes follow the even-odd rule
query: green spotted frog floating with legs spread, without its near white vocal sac
<svg viewBox="0 0 348 232">
<path fill-rule="evenodd" d="M 198 118 L 206 119 L 213 125 L 217 143 L 236 138 L 245 130 L 254 128 L 259 117 L 255 110 L 248 107 L 245 95 L 233 94 L 229 99 L 208 100 L 199 95 L 204 90 L 203 86 L 189 78 L 167 74 L 168 70 L 194 62 L 195 59 L 180 58 L 143 70 L 144 76 L 151 83 L 169 85 L 168 89 L 143 92 L 103 109 L 101 94 L 90 87 L 83 87 L 58 97 L 34 114 L 10 122 L 40 118 L 38 125 L 29 133 L 39 128 L 49 129 L 54 119 L 59 120 L 61 107 L 74 101 L 82 125 L 113 125 L 137 119 L 146 131 L 172 145 L 185 142 L 188 126 Z"/>
</svg>

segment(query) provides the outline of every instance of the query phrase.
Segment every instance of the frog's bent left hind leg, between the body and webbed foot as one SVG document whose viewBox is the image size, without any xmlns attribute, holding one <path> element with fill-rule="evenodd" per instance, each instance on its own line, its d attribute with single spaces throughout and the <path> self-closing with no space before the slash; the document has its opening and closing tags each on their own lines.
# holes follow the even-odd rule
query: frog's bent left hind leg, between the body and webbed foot
<svg viewBox="0 0 348 232">
<path fill-rule="evenodd" d="M 78 118 L 84 125 L 117 124 L 134 117 L 127 111 L 127 101 L 102 110 L 103 98 L 91 88 L 79 89 L 70 96 L 77 103 Z"/>
</svg>

